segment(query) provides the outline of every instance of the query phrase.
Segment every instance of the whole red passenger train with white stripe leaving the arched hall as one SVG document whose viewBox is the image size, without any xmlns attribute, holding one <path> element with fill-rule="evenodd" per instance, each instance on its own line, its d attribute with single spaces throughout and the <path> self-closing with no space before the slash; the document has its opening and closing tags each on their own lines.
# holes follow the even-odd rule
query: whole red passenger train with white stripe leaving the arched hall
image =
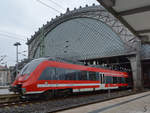
<svg viewBox="0 0 150 113">
<path fill-rule="evenodd" d="M 126 72 L 39 58 L 24 66 L 12 90 L 22 95 L 107 90 L 127 87 L 127 79 Z"/>
</svg>

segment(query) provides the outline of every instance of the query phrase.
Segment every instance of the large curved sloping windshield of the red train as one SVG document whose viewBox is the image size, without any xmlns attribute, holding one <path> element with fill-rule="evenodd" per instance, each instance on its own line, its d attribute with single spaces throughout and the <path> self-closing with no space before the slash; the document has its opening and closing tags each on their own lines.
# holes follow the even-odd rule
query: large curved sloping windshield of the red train
<svg viewBox="0 0 150 113">
<path fill-rule="evenodd" d="M 46 58 L 39 58 L 39 59 L 35 59 L 32 60 L 31 62 L 27 63 L 22 70 L 20 71 L 19 75 L 25 75 L 25 74 L 30 74 L 31 72 L 33 72 L 35 70 L 35 68 L 44 60 L 47 60 Z"/>
</svg>

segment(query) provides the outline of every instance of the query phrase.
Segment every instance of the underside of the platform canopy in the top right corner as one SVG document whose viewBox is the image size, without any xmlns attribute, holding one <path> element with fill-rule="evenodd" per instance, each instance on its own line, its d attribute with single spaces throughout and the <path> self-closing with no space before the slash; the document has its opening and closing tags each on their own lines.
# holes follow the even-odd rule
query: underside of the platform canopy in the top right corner
<svg viewBox="0 0 150 113">
<path fill-rule="evenodd" d="M 150 42 L 150 0 L 97 0 L 144 42 Z"/>
</svg>

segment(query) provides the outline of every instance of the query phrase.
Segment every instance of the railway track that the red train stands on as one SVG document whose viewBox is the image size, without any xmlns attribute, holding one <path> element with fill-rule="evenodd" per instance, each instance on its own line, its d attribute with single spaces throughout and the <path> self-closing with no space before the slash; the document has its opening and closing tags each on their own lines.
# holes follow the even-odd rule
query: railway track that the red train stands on
<svg viewBox="0 0 150 113">
<path fill-rule="evenodd" d="M 105 94 L 104 92 L 101 94 Z M 78 98 L 78 97 L 88 97 L 92 95 L 99 95 L 99 92 L 84 92 L 84 93 L 74 93 L 70 96 L 62 97 L 62 96 L 56 96 L 55 98 L 52 98 L 50 100 L 42 100 L 42 99 L 37 99 L 37 100 L 28 100 L 28 101 L 22 101 L 20 100 L 19 95 L 15 94 L 9 94 L 9 95 L 1 95 L 0 96 L 0 108 L 4 107 L 13 107 L 13 106 L 20 106 L 20 105 L 27 105 L 27 104 L 34 104 L 34 103 L 42 103 L 45 101 L 61 101 L 65 99 L 73 99 L 73 98 Z"/>
</svg>

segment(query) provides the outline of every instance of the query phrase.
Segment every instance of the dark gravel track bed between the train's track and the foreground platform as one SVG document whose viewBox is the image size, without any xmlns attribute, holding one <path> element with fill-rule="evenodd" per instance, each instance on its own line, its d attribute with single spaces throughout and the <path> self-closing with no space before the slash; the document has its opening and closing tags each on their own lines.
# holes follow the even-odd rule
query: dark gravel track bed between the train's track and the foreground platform
<svg viewBox="0 0 150 113">
<path fill-rule="evenodd" d="M 34 101 L 25 101 L 25 102 L 10 102 L 0 104 L 0 112 L 8 113 L 29 113 L 37 111 L 36 113 L 51 113 L 59 112 L 66 109 L 76 108 L 79 106 L 89 105 L 93 103 L 103 102 L 106 100 L 120 98 L 128 95 L 133 95 L 135 92 L 126 90 L 126 91 L 115 91 L 108 93 L 99 93 L 95 92 L 94 94 L 73 94 L 68 97 L 56 97 L 50 100 L 34 100 Z M 15 107 L 14 107 L 15 106 Z M 16 107 L 17 106 L 17 107 Z M 11 111 L 6 109 L 11 108 Z M 43 111 L 45 110 L 45 111 Z"/>
</svg>

